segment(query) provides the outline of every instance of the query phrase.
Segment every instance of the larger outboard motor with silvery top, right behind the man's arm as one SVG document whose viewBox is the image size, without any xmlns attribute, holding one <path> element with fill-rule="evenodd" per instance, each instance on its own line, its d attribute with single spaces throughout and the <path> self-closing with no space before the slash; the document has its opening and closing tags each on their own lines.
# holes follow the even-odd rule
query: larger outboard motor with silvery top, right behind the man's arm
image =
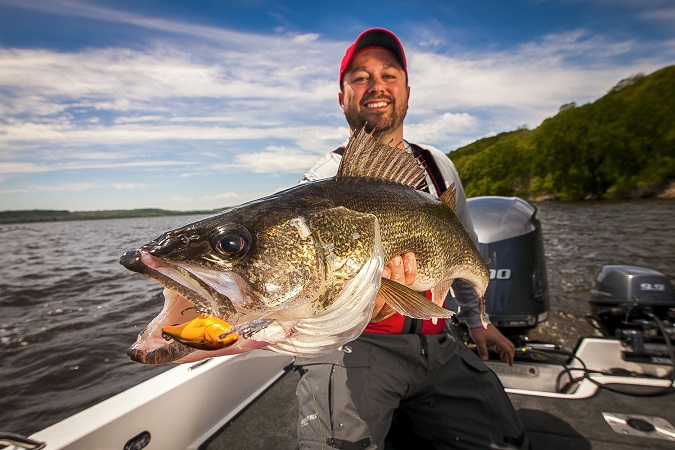
<svg viewBox="0 0 675 450">
<path fill-rule="evenodd" d="M 475 197 L 467 203 L 478 250 L 490 260 L 485 294 L 490 321 L 507 336 L 536 327 L 549 311 L 537 208 L 517 197 Z"/>
</svg>

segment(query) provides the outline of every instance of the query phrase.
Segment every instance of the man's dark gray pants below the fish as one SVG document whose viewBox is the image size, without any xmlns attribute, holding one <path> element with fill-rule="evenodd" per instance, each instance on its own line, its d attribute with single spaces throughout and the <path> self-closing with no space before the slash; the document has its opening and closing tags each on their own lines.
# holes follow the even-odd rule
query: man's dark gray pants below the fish
<svg viewBox="0 0 675 450">
<path fill-rule="evenodd" d="M 298 364 L 300 449 L 384 449 L 395 410 L 416 448 L 529 448 L 497 376 L 452 335 L 364 333 Z"/>
</svg>

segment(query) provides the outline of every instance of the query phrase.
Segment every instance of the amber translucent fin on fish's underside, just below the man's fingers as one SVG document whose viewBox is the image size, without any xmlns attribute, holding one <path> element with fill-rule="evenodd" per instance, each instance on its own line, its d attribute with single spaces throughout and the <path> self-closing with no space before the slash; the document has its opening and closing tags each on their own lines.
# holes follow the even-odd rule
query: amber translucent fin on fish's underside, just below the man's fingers
<svg viewBox="0 0 675 450">
<path fill-rule="evenodd" d="M 387 278 L 382 278 L 379 294 L 396 312 L 413 319 L 449 319 L 454 314 L 432 303 L 420 293 Z"/>
</svg>

